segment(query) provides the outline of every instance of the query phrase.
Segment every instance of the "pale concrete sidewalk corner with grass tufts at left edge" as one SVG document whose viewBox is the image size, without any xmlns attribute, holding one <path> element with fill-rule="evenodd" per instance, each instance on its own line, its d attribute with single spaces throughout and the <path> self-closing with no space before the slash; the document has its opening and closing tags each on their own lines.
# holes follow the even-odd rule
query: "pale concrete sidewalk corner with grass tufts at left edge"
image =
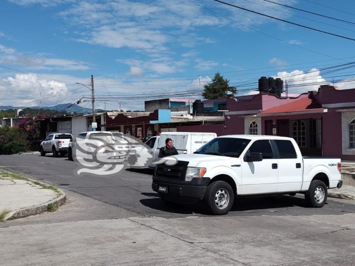
<svg viewBox="0 0 355 266">
<path fill-rule="evenodd" d="M 58 188 L 0 172 L 0 221 L 53 211 L 65 200 L 65 193 Z"/>
</svg>

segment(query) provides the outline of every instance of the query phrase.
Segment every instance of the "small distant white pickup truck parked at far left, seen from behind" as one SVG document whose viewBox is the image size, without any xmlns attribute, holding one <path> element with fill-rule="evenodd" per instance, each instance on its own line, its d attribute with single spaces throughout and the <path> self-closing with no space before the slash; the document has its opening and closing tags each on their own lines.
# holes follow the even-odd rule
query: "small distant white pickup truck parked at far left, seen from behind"
<svg viewBox="0 0 355 266">
<path fill-rule="evenodd" d="M 53 153 L 54 157 L 58 157 L 59 153 L 64 156 L 68 152 L 68 145 L 73 136 L 68 133 L 49 134 L 47 138 L 41 142 L 39 152 L 41 156 L 46 153 Z"/>
</svg>

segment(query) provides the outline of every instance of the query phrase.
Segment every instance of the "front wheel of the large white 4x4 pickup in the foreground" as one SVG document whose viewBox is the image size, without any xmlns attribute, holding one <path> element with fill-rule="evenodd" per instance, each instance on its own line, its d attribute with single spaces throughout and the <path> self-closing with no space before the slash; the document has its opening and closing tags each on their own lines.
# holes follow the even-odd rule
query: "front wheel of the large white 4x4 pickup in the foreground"
<svg viewBox="0 0 355 266">
<path fill-rule="evenodd" d="M 227 214 L 233 206 L 233 189 L 225 181 L 211 183 L 206 190 L 205 202 L 214 215 Z"/>
</svg>

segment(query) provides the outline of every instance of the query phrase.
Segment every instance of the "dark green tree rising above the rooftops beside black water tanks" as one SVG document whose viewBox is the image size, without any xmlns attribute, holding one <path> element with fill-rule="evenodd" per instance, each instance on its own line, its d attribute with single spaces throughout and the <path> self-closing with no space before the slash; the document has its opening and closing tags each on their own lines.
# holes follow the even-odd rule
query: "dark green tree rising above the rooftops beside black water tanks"
<svg viewBox="0 0 355 266">
<path fill-rule="evenodd" d="M 214 78 L 210 84 L 205 85 L 205 91 L 202 96 L 205 99 L 220 99 L 228 96 L 234 96 L 237 92 L 236 87 L 230 87 L 228 85 L 229 80 L 223 78 L 219 72 L 214 75 Z"/>
</svg>

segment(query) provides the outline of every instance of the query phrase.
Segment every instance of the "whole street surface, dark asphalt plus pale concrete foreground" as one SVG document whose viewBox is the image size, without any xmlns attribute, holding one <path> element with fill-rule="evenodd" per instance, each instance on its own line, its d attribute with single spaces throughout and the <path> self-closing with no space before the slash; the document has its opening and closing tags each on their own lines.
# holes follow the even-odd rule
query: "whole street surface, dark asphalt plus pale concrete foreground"
<svg viewBox="0 0 355 266">
<path fill-rule="evenodd" d="M 77 176 L 50 155 L 0 156 L 0 168 L 62 188 L 55 212 L 0 223 L 0 265 L 353 266 L 355 201 L 238 200 L 225 216 L 165 205 L 149 170 Z"/>
</svg>

